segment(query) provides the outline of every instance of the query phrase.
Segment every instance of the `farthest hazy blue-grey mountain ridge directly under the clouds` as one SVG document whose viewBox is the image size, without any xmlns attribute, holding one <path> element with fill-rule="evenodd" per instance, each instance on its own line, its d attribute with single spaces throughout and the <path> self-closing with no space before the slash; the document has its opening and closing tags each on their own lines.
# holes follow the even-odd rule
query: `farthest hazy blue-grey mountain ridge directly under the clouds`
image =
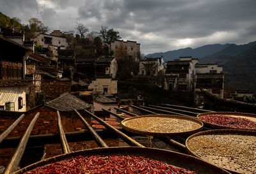
<svg viewBox="0 0 256 174">
<path fill-rule="evenodd" d="M 154 54 L 145 55 L 146 57 L 161 57 L 163 55 L 164 61 L 173 61 L 174 59 L 179 59 L 180 56 L 192 56 L 195 58 L 203 58 L 207 55 L 212 55 L 216 52 L 223 50 L 228 47 L 229 44 L 221 45 L 204 45 L 198 48 L 182 48 L 179 50 L 173 50 L 168 52 L 159 52 Z"/>
</svg>

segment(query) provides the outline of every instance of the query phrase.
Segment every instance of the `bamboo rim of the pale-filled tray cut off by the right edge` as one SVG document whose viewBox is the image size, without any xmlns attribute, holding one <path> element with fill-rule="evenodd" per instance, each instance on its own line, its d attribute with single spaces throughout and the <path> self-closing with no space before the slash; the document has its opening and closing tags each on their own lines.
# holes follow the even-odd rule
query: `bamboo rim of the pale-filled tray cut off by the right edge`
<svg viewBox="0 0 256 174">
<path fill-rule="evenodd" d="M 210 131 L 201 131 L 199 133 L 195 133 L 192 134 L 191 136 L 189 136 L 186 139 L 185 145 L 186 145 L 186 149 L 188 151 L 188 153 L 191 156 L 195 156 L 198 157 L 200 159 L 202 159 L 201 157 L 197 156 L 196 154 L 194 154 L 191 149 L 189 149 L 188 147 L 188 141 L 191 140 L 191 138 L 195 137 L 195 136 L 200 136 L 200 135 L 204 135 L 204 134 L 212 134 L 212 133 L 223 133 L 223 134 L 227 134 L 227 133 L 233 133 L 233 134 L 248 134 L 248 135 L 254 135 L 256 136 L 256 131 L 249 131 L 249 130 L 244 130 L 244 129 L 215 129 L 215 130 L 210 130 Z M 205 161 L 205 159 L 202 159 Z M 207 163 L 209 163 L 208 161 L 206 161 Z M 223 168 L 223 166 L 218 166 L 220 168 Z M 235 173 L 235 174 L 241 174 L 241 173 L 237 173 L 237 171 L 233 171 L 233 170 L 228 170 L 227 168 L 224 168 L 227 171 L 230 171 L 231 173 Z"/>
</svg>

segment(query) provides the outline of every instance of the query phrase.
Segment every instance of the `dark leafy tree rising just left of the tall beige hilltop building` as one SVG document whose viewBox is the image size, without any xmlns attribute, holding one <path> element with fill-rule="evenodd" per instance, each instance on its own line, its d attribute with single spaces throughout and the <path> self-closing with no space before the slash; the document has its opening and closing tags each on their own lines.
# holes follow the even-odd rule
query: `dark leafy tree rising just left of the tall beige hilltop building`
<svg viewBox="0 0 256 174">
<path fill-rule="evenodd" d="M 100 37 L 102 38 L 102 40 L 104 42 L 108 42 L 108 43 L 111 42 L 111 41 L 121 39 L 118 31 L 114 31 L 113 28 L 108 29 L 107 26 L 101 26 L 99 34 L 100 34 Z"/>
</svg>

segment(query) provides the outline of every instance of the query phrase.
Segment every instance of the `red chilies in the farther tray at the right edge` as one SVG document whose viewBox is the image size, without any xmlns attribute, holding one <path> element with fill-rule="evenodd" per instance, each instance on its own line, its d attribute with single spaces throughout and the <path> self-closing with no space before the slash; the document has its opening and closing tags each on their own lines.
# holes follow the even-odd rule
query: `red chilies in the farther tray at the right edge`
<svg viewBox="0 0 256 174">
<path fill-rule="evenodd" d="M 233 128 L 240 129 L 256 129 L 256 122 L 253 122 L 249 119 L 244 119 L 240 117 L 230 117 L 227 115 L 205 115 L 203 117 L 199 117 L 198 119 L 203 120 L 205 122 L 209 122 L 211 124 L 216 124 L 220 126 L 228 126 Z"/>
</svg>

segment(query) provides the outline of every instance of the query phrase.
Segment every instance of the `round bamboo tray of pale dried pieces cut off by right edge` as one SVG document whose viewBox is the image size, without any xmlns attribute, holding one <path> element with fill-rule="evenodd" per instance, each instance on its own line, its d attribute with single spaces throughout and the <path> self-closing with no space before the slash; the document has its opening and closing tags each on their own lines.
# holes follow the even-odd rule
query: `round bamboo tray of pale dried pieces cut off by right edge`
<svg viewBox="0 0 256 174">
<path fill-rule="evenodd" d="M 256 173 L 256 131 L 203 131 L 186 140 L 189 154 L 231 173 Z"/>
</svg>

